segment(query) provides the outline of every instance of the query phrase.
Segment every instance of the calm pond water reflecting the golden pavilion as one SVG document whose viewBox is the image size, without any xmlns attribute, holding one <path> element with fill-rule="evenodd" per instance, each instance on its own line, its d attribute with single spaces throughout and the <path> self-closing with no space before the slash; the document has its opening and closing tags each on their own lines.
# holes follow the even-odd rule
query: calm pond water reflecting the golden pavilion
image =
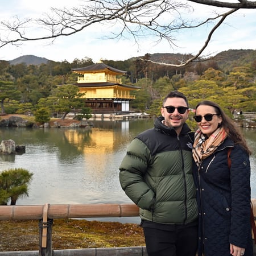
<svg viewBox="0 0 256 256">
<path fill-rule="evenodd" d="M 23 155 L 0 156 L 0 171 L 34 173 L 22 204 L 131 203 L 119 185 L 118 166 L 131 139 L 153 126 L 153 119 L 94 121 L 85 129 L 0 129 L 0 139 L 26 146 Z M 251 156 L 252 197 L 256 198 L 256 131 L 243 130 Z"/>
</svg>

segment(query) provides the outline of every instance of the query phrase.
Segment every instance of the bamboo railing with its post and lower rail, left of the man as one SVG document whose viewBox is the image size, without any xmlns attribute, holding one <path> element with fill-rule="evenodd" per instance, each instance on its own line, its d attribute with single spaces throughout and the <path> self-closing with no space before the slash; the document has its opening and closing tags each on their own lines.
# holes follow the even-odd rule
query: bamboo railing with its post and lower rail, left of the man
<svg viewBox="0 0 256 256">
<path fill-rule="evenodd" d="M 39 220 L 39 251 L 31 253 L 14 252 L 1 253 L 0 255 L 39 255 L 52 256 L 52 224 L 56 218 L 90 218 L 90 217 L 137 217 L 139 208 L 135 204 L 45 204 L 45 205 L 0 205 L 1 220 Z M 1 225 L 1 224 L 0 224 Z M 1 240 L 1 238 L 0 238 Z M 86 250 L 86 249 L 85 249 Z M 89 250 L 89 249 L 88 249 Z M 95 252 L 93 252 L 93 250 Z M 110 250 L 110 249 L 106 249 Z M 112 254 L 100 254 L 96 249 L 90 249 L 89 255 L 147 255 L 144 247 L 133 249 L 122 247 L 112 249 Z M 131 251 L 131 253 L 129 252 Z M 64 250 L 65 251 L 65 250 Z M 111 251 L 111 250 L 110 250 Z M 93 254 L 95 253 L 95 254 Z M 54 255 L 58 255 L 54 251 Z M 67 254 L 60 255 L 85 255 L 85 251 L 75 251 L 74 254 L 68 250 Z M 87 255 L 87 254 L 86 254 Z"/>
</svg>

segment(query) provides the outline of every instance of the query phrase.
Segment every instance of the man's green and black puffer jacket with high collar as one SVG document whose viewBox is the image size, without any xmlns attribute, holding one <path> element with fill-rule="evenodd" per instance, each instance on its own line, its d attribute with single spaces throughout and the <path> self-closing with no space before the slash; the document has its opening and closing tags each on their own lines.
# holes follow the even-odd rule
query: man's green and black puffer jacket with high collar
<svg viewBox="0 0 256 256">
<path fill-rule="evenodd" d="M 139 134 L 119 166 L 126 195 L 140 208 L 142 220 L 188 224 L 197 220 L 192 176 L 193 133 L 184 124 L 179 137 L 155 119 L 155 127 Z"/>
</svg>

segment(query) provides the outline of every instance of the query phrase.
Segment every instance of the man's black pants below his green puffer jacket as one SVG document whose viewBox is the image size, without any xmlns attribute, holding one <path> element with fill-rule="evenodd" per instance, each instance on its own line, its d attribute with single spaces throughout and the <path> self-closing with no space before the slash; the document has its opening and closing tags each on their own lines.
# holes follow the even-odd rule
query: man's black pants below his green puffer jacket
<svg viewBox="0 0 256 256">
<path fill-rule="evenodd" d="M 197 225 L 175 226 L 174 230 L 144 227 L 148 256 L 195 256 L 197 251 Z"/>
</svg>

